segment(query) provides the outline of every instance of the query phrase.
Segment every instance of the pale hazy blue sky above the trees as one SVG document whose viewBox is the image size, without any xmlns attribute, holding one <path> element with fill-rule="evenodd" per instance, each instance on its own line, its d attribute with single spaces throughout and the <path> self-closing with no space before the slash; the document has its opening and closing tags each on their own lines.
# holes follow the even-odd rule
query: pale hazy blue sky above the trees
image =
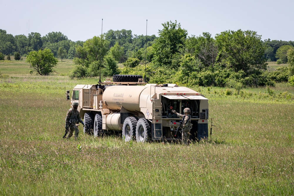
<svg viewBox="0 0 294 196">
<path fill-rule="evenodd" d="M 188 35 L 212 36 L 226 30 L 252 30 L 262 40 L 294 41 L 294 0 L 0 0 L 0 29 L 12 35 L 60 31 L 86 41 L 108 30 L 158 36 L 162 23 L 181 24 Z"/>
</svg>

